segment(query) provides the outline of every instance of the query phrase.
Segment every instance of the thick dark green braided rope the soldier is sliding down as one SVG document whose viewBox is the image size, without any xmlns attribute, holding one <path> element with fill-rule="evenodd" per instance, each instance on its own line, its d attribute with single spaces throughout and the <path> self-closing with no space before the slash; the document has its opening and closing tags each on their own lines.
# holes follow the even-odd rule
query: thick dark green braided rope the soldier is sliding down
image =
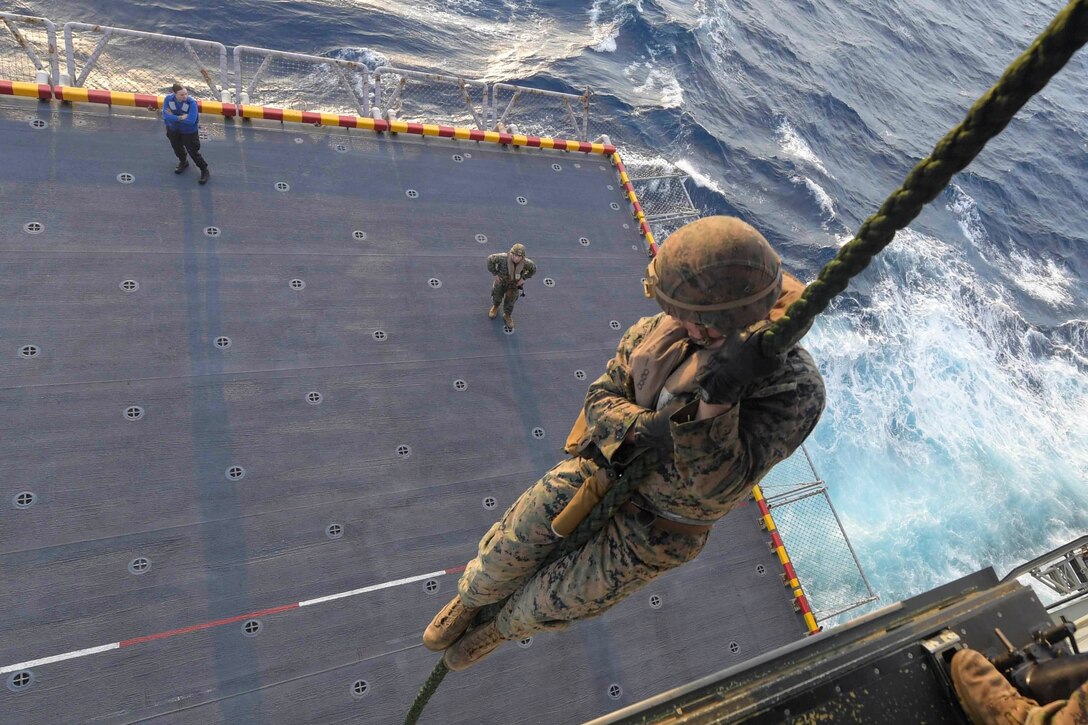
<svg viewBox="0 0 1088 725">
<path fill-rule="evenodd" d="M 764 348 L 783 352 L 804 336 L 805 328 L 827 309 L 836 295 L 846 288 L 851 278 L 868 267 L 869 261 L 888 246 L 895 232 L 911 223 L 922 207 L 937 197 L 953 174 L 978 156 L 987 142 L 997 136 L 1013 115 L 1062 70 L 1088 40 L 1088 0 L 1073 0 L 1063 9 L 1035 42 L 1005 70 L 998 82 L 979 98 L 966 118 L 948 133 L 932 153 L 918 162 L 880 209 L 865 220 L 857 234 L 839 250 L 819 275 L 805 287 L 801 298 L 775 322 L 763 337 Z M 630 481 L 619 478 L 596 507 L 570 537 L 560 540 L 547 563 L 582 546 L 619 506 L 630 497 Z M 480 626 L 495 618 L 508 600 L 484 607 L 475 616 Z M 431 696 L 449 669 L 440 661 L 412 702 L 406 725 L 416 725 Z"/>
</svg>

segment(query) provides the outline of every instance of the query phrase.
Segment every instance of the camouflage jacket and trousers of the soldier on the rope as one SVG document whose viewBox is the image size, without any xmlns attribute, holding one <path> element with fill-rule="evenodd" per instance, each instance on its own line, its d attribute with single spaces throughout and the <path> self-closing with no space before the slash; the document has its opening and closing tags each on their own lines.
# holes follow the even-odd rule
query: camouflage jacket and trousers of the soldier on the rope
<svg viewBox="0 0 1088 725">
<path fill-rule="evenodd" d="M 697 402 L 694 394 L 687 394 L 693 402 L 670 422 L 672 451 L 651 448 L 631 460 L 633 446 L 625 444 L 623 438 L 645 409 L 633 402 L 630 356 L 664 319 L 660 314 L 632 325 L 605 373 L 589 389 L 585 417 L 596 443 L 594 459 L 562 460 L 526 491 L 481 540 L 479 555 L 459 581 L 465 605 L 479 607 L 509 597 L 536 574 L 496 620 L 507 639 L 562 629 L 572 619 L 601 614 L 660 574 L 694 558 L 706 542 L 707 533 L 663 531 L 621 512 L 582 549 L 537 574 L 558 541 L 552 519 L 598 464 L 615 469 L 630 462 L 622 475 L 638 477 L 635 496 L 642 505 L 712 523 L 743 501 L 753 483 L 800 446 L 823 411 L 823 380 L 808 353 L 795 346 L 779 370 L 753 383 L 740 405 L 716 418 L 693 420 Z M 659 400 L 658 407 L 663 403 Z"/>
</svg>

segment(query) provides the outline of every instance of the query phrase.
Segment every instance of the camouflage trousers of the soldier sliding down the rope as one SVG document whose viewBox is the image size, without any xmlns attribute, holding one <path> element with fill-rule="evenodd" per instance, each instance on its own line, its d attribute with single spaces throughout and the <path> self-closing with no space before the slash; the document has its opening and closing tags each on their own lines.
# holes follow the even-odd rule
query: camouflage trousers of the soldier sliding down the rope
<svg viewBox="0 0 1088 725">
<path fill-rule="evenodd" d="M 544 474 L 491 527 L 465 569 L 458 591 L 466 606 L 514 594 L 496 619 L 507 639 L 565 629 L 572 619 L 602 614 L 694 558 L 706 543 L 707 533 L 659 531 L 619 513 L 584 546 L 541 568 L 559 541 L 552 519 L 593 470 L 591 463 L 568 458 Z"/>
</svg>

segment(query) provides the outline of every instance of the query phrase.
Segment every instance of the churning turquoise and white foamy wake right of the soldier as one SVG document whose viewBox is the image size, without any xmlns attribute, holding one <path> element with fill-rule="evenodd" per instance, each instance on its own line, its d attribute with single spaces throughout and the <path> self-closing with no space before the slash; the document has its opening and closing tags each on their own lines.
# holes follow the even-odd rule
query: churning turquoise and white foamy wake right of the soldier
<svg viewBox="0 0 1088 725">
<path fill-rule="evenodd" d="M 885 600 L 1088 530 L 1088 380 L 1068 341 L 960 245 L 910 229 L 857 286 L 864 306 L 805 339 L 828 390 L 809 448 Z"/>
</svg>

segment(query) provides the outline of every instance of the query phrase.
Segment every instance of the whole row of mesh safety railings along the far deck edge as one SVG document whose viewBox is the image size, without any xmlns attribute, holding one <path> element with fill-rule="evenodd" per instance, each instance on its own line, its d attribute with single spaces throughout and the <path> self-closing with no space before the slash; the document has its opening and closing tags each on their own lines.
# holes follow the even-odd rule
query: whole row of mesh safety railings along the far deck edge
<svg viewBox="0 0 1088 725">
<path fill-rule="evenodd" d="M 0 78 L 161 95 L 174 83 L 223 102 L 382 115 L 589 140 L 590 93 L 568 94 L 109 25 L 0 13 Z M 682 187 L 681 187 L 682 189 Z M 682 193 L 682 192 L 681 192 Z M 672 205 L 671 199 L 666 204 Z M 675 214 L 673 214 L 675 216 Z"/>
</svg>

